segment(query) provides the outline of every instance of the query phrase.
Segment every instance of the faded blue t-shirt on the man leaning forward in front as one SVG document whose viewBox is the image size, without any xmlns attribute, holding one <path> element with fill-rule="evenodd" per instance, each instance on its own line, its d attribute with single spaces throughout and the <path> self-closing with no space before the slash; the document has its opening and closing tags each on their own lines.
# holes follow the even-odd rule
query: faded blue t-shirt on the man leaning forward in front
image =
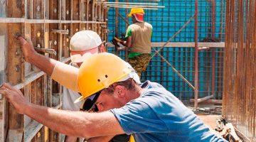
<svg viewBox="0 0 256 142">
<path fill-rule="evenodd" d="M 160 84 L 146 81 L 142 88 L 140 97 L 110 110 L 135 141 L 225 141 Z"/>
</svg>

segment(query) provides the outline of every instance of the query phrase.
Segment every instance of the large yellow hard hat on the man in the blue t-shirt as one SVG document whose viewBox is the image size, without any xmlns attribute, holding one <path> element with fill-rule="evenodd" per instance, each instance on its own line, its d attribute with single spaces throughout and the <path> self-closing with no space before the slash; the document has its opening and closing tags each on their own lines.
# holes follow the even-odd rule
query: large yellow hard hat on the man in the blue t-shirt
<svg viewBox="0 0 256 142">
<path fill-rule="evenodd" d="M 79 102 L 100 90 L 109 87 L 127 77 L 132 69 L 117 55 L 99 53 L 91 55 L 82 63 L 78 72 L 78 87 L 82 96 L 75 100 Z"/>
</svg>

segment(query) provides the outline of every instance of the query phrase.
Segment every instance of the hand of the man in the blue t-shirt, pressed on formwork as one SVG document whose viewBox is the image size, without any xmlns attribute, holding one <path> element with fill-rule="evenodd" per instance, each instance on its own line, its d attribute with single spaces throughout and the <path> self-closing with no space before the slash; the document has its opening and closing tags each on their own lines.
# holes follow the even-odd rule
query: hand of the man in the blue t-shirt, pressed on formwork
<svg viewBox="0 0 256 142">
<path fill-rule="evenodd" d="M 30 104 L 23 96 L 20 90 L 11 87 L 9 84 L 3 84 L 0 87 L 0 94 L 10 102 L 18 112 L 18 114 L 24 114 L 26 105 Z"/>
</svg>

